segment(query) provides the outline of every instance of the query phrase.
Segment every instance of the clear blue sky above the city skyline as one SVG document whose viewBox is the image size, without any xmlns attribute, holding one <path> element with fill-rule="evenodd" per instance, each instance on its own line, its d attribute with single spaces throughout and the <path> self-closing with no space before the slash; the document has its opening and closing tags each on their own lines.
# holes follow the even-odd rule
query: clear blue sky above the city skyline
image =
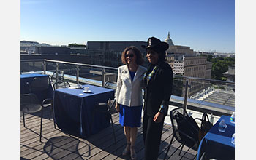
<svg viewBox="0 0 256 160">
<path fill-rule="evenodd" d="M 20 40 L 162 41 L 196 51 L 235 52 L 234 0 L 20 0 Z"/>
</svg>

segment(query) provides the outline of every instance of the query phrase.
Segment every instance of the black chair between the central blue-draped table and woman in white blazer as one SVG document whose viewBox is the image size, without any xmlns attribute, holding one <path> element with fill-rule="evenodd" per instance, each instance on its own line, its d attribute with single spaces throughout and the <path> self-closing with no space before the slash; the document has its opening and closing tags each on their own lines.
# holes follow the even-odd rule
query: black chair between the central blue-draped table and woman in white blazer
<svg viewBox="0 0 256 160">
<path fill-rule="evenodd" d="M 113 119 L 112 119 L 112 114 L 117 113 L 115 105 L 116 105 L 116 99 L 108 100 L 108 103 L 98 103 L 97 105 L 95 105 L 91 124 L 93 124 L 95 112 L 102 112 L 102 113 L 108 114 L 110 116 L 111 126 L 113 129 L 113 135 L 114 135 L 115 144 L 116 144 L 116 134 L 115 134 L 115 129 L 113 127 Z"/>
</svg>

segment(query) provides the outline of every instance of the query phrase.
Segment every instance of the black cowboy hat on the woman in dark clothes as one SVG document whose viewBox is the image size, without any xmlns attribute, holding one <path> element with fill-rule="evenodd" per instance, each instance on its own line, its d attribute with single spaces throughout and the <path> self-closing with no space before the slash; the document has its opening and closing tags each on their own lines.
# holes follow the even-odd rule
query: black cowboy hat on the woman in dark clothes
<svg viewBox="0 0 256 160">
<path fill-rule="evenodd" d="M 148 44 L 147 46 L 141 45 L 143 49 L 154 49 L 154 50 L 159 50 L 159 51 L 166 51 L 169 48 L 169 44 L 166 42 L 162 42 L 160 39 L 157 39 L 156 37 L 152 36 L 148 38 Z"/>
</svg>

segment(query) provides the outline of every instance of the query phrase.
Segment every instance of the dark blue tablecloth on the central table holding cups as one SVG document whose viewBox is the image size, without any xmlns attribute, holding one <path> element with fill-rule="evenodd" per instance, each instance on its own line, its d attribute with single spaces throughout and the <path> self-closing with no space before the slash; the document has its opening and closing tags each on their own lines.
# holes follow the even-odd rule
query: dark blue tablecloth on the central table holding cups
<svg viewBox="0 0 256 160">
<path fill-rule="evenodd" d="M 89 137 L 110 125 L 110 116 L 105 113 L 95 113 L 93 124 L 92 114 L 94 105 L 107 103 L 114 98 L 114 90 L 92 85 L 91 92 L 84 93 L 83 89 L 56 89 L 53 95 L 53 110 L 58 127 L 80 137 Z"/>
</svg>

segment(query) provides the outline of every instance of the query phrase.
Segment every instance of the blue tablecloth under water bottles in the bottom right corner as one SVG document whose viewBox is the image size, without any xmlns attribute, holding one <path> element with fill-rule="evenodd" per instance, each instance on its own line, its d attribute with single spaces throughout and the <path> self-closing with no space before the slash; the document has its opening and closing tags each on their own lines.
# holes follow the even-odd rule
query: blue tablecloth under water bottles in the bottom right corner
<svg viewBox="0 0 256 160">
<path fill-rule="evenodd" d="M 225 132 L 219 132 L 219 122 L 225 119 L 227 128 Z M 231 143 L 231 138 L 235 132 L 235 124 L 230 122 L 230 116 L 221 116 L 209 132 L 200 142 L 197 160 L 205 152 L 207 159 L 235 159 L 235 145 Z"/>
</svg>

